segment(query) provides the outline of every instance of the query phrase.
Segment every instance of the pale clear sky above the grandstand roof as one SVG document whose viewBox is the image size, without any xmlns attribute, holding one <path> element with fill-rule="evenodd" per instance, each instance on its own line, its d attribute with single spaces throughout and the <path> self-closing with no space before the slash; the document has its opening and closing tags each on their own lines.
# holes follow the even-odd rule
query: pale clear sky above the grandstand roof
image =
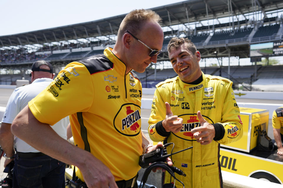
<svg viewBox="0 0 283 188">
<path fill-rule="evenodd" d="M 0 36 L 78 24 L 129 13 L 133 9 L 150 9 L 170 1 L 129 0 L 0 0 Z"/>
</svg>

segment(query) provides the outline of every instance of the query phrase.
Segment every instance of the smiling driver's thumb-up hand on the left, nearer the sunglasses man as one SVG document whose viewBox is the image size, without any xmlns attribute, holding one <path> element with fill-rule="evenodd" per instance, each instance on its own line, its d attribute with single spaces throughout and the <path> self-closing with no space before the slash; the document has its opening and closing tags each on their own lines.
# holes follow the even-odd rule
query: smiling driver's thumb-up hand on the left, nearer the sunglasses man
<svg viewBox="0 0 283 188">
<path fill-rule="evenodd" d="M 166 117 L 162 121 L 162 125 L 167 132 L 179 132 L 183 127 L 183 119 L 177 115 L 173 115 L 170 104 L 165 102 L 166 106 Z"/>
</svg>

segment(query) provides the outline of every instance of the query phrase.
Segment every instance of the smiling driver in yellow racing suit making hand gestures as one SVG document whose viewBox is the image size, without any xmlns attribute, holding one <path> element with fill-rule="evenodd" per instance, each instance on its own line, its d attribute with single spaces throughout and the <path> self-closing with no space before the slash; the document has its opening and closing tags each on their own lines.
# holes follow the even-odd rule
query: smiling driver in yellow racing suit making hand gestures
<svg viewBox="0 0 283 188">
<path fill-rule="evenodd" d="M 175 143 L 173 152 L 193 146 L 172 156 L 174 165 L 187 175 L 176 174 L 186 188 L 223 187 L 220 144 L 235 142 L 243 134 L 232 82 L 204 74 L 200 52 L 187 38 L 172 38 L 168 54 L 178 76 L 156 85 L 149 136 L 155 142 Z M 171 150 L 172 145 L 167 147 Z M 167 172 L 162 178 L 164 183 L 173 181 Z M 182 185 L 176 181 L 176 187 Z"/>
</svg>

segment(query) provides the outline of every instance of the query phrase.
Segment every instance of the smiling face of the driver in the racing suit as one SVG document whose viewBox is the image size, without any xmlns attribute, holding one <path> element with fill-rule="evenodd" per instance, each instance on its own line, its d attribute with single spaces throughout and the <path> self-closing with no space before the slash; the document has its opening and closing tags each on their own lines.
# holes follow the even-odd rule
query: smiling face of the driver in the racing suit
<svg viewBox="0 0 283 188">
<path fill-rule="evenodd" d="M 183 82 L 190 83 L 201 76 L 199 51 L 193 54 L 187 49 L 186 44 L 182 44 L 179 48 L 171 49 L 168 55 L 173 69 Z"/>
</svg>

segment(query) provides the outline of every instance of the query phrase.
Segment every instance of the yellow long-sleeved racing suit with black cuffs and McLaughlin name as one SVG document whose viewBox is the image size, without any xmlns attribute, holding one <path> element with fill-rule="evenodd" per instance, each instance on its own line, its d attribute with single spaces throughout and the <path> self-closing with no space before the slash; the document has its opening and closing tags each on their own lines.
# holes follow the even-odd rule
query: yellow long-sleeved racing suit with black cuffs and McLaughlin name
<svg viewBox="0 0 283 188">
<path fill-rule="evenodd" d="M 187 176 L 176 174 L 186 188 L 223 187 L 219 162 L 220 143 L 228 144 L 242 137 L 240 111 L 232 90 L 232 82 L 219 76 L 202 73 L 198 84 L 184 83 L 177 76 L 156 85 L 149 118 L 149 136 L 157 142 L 175 144 L 173 152 L 193 146 L 192 149 L 172 155 L 174 165 Z M 202 81 L 201 81 L 202 80 Z M 178 133 L 166 132 L 162 120 L 166 116 L 165 102 L 170 104 L 173 115 L 183 119 L 183 128 Z M 199 127 L 197 112 L 215 127 L 215 137 L 208 145 L 196 142 L 191 130 Z M 172 145 L 167 147 L 168 153 Z M 173 179 L 165 173 L 165 182 Z M 176 181 L 176 187 L 182 187 Z"/>
</svg>

